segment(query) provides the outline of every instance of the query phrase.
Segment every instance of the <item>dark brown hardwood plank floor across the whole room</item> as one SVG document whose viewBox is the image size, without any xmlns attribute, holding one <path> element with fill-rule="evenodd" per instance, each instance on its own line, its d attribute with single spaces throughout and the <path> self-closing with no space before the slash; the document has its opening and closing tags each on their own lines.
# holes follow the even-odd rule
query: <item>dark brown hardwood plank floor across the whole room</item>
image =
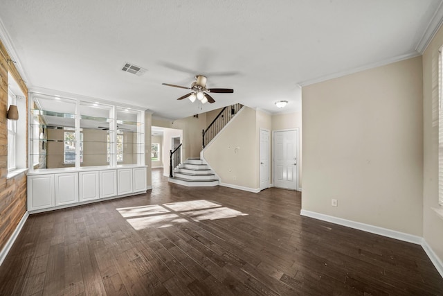
<svg viewBox="0 0 443 296">
<path fill-rule="evenodd" d="M 419 245 L 300 216 L 300 193 L 168 184 L 31 215 L 0 295 L 443 295 Z"/>
</svg>

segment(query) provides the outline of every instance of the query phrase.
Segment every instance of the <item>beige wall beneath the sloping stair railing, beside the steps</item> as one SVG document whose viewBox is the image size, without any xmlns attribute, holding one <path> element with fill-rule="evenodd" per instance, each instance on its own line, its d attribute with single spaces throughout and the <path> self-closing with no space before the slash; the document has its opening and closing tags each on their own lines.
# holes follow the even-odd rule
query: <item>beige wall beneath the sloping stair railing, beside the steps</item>
<svg viewBox="0 0 443 296">
<path fill-rule="evenodd" d="M 244 107 L 204 150 L 204 157 L 225 184 L 258 189 L 256 112 Z"/>
</svg>

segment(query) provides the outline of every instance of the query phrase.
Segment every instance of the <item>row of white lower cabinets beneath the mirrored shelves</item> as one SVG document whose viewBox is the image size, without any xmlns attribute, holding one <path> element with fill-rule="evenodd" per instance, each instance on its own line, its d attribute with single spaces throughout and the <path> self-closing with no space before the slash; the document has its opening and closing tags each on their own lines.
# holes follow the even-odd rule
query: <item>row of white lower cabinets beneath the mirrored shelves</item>
<svg viewBox="0 0 443 296">
<path fill-rule="evenodd" d="M 35 213 L 72 207 L 145 191 L 146 166 L 69 173 L 29 173 L 28 211 Z"/>
</svg>

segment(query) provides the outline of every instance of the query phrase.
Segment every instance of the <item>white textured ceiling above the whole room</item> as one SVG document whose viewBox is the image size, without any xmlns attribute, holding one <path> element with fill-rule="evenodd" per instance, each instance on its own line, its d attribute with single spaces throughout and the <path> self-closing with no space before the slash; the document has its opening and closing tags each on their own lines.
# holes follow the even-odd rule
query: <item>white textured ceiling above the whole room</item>
<svg viewBox="0 0 443 296">
<path fill-rule="evenodd" d="M 179 119 L 231 103 L 300 110 L 299 84 L 419 55 L 441 0 L 0 0 L 3 37 L 30 89 L 144 107 Z M 6 42 L 8 44 L 8 42 Z M 121 71 L 125 62 L 142 76 Z M 193 76 L 214 104 L 176 99 Z M 46 91 L 51 93 L 52 91 Z M 279 110 L 275 101 L 287 100 Z"/>
</svg>

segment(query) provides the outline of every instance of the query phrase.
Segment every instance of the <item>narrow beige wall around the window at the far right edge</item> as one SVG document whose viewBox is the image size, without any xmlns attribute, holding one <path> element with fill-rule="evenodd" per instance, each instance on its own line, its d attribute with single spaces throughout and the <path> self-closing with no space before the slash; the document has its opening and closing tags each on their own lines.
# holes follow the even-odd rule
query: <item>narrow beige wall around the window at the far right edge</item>
<svg viewBox="0 0 443 296">
<path fill-rule="evenodd" d="M 443 45 L 443 28 L 423 54 L 423 237 L 443 261 L 443 219 L 434 209 L 438 204 L 438 50 Z"/>
</svg>

